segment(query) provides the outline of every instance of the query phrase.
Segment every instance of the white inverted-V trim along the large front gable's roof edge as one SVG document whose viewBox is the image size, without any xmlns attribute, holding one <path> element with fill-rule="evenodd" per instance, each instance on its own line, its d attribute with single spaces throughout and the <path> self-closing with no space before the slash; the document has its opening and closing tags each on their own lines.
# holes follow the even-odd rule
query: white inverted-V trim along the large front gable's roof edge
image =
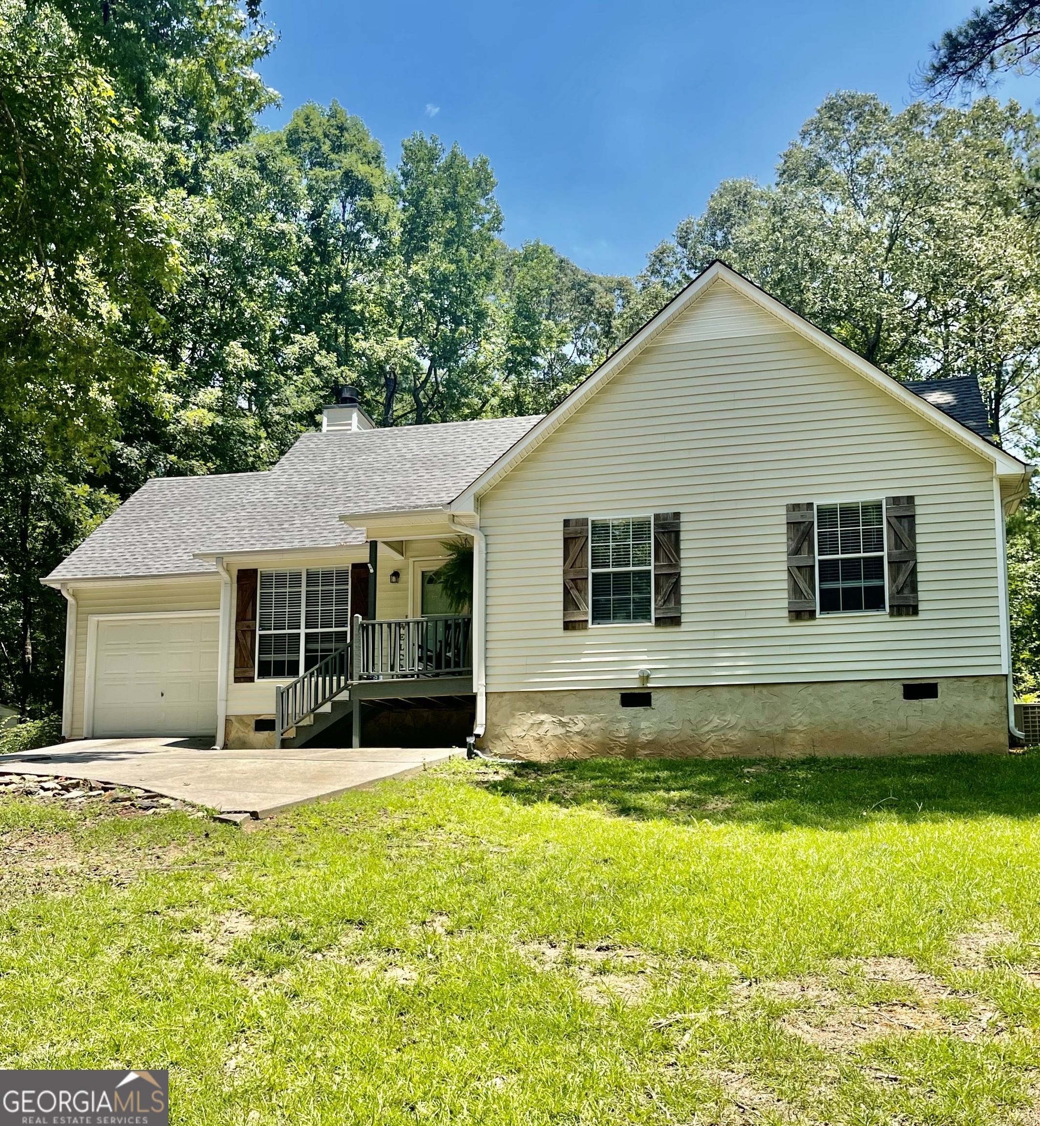
<svg viewBox="0 0 1040 1126">
<path fill-rule="evenodd" d="M 771 297 L 753 282 L 737 274 L 736 270 L 730 269 L 725 262 L 716 260 L 685 286 L 685 288 L 681 289 L 643 328 L 629 337 L 612 356 L 606 359 L 586 379 L 580 383 L 555 410 L 550 411 L 540 422 L 534 426 L 515 446 L 506 450 L 502 457 L 493 465 L 490 465 L 470 485 L 459 493 L 452 501 L 452 510 L 456 512 L 473 511 L 474 501 L 477 497 L 501 481 L 515 465 L 519 465 L 583 403 L 594 395 L 600 387 L 620 374 L 648 345 L 656 340 L 672 324 L 675 318 L 690 309 L 712 285 L 717 284 L 729 285 L 753 304 L 774 316 L 781 324 L 816 345 L 816 347 L 834 357 L 845 367 L 857 372 L 869 383 L 903 403 L 904 406 L 924 418 L 938 429 L 961 443 L 961 445 L 980 454 L 986 461 L 995 464 L 999 476 L 1028 480 L 1032 467 L 1026 465 L 1021 458 L 1014 457 L 998 446 L 995 446 L 974 429 L 963 425 L 954 415 L 945 413 L 941 408 L 929 402 L 927 399 L 908 391 L 907 384 L 899 383 L 890 375 L 886 375 L 880 368 L 875 367 L 868 360 L 863 359 L 862 356 L 852 351 L 851 348 L 845 347 L 845 345 L 835 340 L 822 329 L 817 329 L 815 324 L 788 309 L 785 304 L 777 301 L 775 297 Z"/>
</svg>

